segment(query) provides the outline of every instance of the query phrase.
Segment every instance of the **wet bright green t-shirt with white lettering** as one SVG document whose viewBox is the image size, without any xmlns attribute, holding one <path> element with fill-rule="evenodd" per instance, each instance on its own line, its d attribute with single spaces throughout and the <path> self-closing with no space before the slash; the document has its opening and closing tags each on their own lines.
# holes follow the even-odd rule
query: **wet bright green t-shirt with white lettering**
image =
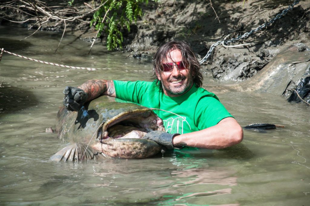
<svg viewBox="0 0 310 206">
<path fill-rule="evenodd" d="M 195 85 L 178 97 L 166 96 L 155 82 L 114 80 L 114 85 L 117 98 L 160 109 L 153 111 L 163 120 L 168 133 L 199 131 L 232 117 L 215 94 Z"/>
</svg>

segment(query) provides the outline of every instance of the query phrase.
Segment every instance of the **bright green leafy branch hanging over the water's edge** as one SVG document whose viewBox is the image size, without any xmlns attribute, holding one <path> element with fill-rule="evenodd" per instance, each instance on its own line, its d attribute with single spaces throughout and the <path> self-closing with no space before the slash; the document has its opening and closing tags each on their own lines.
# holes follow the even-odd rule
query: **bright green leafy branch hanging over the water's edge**
<svg viewBox="0 0 310 206">
<path fill-rule="evenodd" d="M 157 1 L 157 0 L 155 0 Z M 90 26 L 95 26 L 98 31 L 97 37 L 105 32 L 107 37 L 107 48 L 111 50 L 116 47 L 122 48 L 122 28 L 130 32 L 130 25 L 142 16 L 139 4 L 148 4 L 148 0 L 101 0 L 101 7 L 95 11 Z"/>
</svg>

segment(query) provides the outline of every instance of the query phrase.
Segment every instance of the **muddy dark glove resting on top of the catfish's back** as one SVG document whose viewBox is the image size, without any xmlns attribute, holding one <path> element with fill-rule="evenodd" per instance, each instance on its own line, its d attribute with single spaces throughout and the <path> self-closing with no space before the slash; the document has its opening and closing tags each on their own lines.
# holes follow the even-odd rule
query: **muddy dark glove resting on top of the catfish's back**
<svg viewBox="0 0 310 206">
<path fill-rule="evenodd" d="M 77 87 L 67 86 L 62 93 L 64 93 L 62 103 L 70 111 L 80 110 L 87 99 L 87 93 Z"/>
</svg>

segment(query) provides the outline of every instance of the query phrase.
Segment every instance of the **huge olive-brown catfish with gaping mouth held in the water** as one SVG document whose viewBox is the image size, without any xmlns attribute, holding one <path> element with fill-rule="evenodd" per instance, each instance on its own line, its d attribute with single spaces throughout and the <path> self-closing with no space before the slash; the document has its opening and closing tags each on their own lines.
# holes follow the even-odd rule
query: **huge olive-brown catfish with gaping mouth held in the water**
<svg viewBox="0 0 310 206">
<path fill-rule="evenodd" d="M 84 106 L 79 112 L 64 107 L 58 111 L 58 138 L 71 144 L 58 151 L 51 160 L 97 159 L 99 154 L 136 159 L 160 152 L 162 147 L 155 141 L 141 138 L 147 132 L 165 130 L 162 119 L 153 110 L 133 103 L 116 102 L 107 96 L 100 96 Z"/>
</svg>

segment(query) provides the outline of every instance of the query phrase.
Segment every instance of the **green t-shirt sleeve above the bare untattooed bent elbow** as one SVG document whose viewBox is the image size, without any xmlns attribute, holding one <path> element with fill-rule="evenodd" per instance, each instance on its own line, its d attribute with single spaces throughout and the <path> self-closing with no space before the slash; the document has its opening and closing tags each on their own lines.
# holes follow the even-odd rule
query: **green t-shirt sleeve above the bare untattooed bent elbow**
<svg viewBox="0 0 310 206">
<path fill-rule="evenodd" d="M 199 130 L 212 127 L 226 117 L 233 116 L 216 98 L 204 96 L 198 101 L 194 119 Z"/>
</svg>

